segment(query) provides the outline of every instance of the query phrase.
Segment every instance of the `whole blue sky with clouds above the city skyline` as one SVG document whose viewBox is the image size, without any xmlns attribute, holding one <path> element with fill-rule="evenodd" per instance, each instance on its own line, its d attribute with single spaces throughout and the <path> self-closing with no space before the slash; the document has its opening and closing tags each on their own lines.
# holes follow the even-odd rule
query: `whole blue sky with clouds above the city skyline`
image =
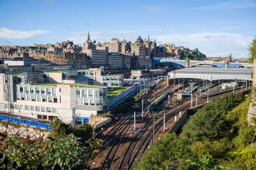
<svg viewBox="0 0 256 170">
<path fill-rule="evenodd" d="M 256 0 L 1 0 L 0 45 L 73 40 L 109 42 L 138 35 L 207 56 L 247 57 L 256 36 Z M 163 34 L 160 32 L 163 32 Z"/>
</svg>

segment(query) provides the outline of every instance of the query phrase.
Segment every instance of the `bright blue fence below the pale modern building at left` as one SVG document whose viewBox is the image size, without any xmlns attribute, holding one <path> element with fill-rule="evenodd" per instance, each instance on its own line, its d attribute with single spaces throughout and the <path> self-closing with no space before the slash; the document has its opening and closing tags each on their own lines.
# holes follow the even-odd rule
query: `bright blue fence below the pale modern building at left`
<svg viewBox="0 0 256 170">
<path fill-rule="evenodd" d="M 10 116 L 4 116 L 4 115 L 0 115 L 0 120 L 7 120 L 9 122 L 15 122 L 15 123 L 19 123 L 19 124 L 25 124 L 27 126 L 35 126 L 38 128 L 45 128 L 45 129 L 52 129 L 52 127 L 49 124 L 46 123 L 39 123 L 39 122 L 35 122 L 32 120 L 25 120 L 25 119 L 18 119 L 18 118 L 14 118 L 14 117 L 10 117 Z"/>
</svg>

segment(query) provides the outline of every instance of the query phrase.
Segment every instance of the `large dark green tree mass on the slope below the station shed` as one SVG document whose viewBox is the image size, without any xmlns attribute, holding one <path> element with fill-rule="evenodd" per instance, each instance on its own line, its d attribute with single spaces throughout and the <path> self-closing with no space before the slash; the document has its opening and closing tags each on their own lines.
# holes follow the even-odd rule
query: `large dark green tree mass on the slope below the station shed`
<svg viewBox="0 0 256 170">
<path fill-rule="evenodd" d="M 239 105 L 243 100 L 242 94 L 229 94 L 222 99 L 214 99 L 194 115 L 190 116 L 189 122 L 183 127 L 180 139 L 192 144 L 205 138 L 211 141 L 219 140 L 227 135 L 230 130 L 226 120 L 228 111 Z"/>
</svg>

